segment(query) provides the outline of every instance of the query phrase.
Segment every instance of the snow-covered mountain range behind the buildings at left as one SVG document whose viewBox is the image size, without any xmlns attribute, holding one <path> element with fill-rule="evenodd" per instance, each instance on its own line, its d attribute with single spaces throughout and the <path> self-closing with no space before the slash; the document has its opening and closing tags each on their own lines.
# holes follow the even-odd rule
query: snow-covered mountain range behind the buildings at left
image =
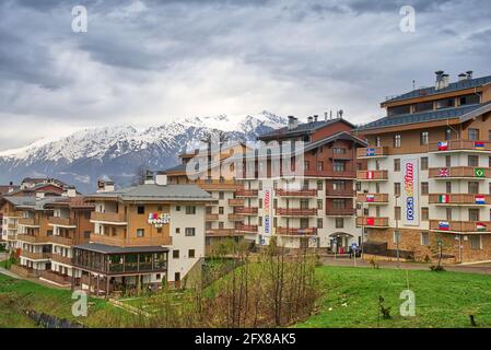
<svg viewBox="0 0 491 350">
<path fill-rule="evenodd" d="M 255 140 L 287 122 L 287 118 L 265 110 L 242 117 L 186 118 L 145 129 L 84 129 L 0 152 L 0 184 L 17 183 L 27 176 L 50 176 L 90 192 L 100 176 L 108 175 L 117 184 L 127 185 L 142 167 L 164 170 L 178 164 L 177 155 L 197 147 L 209 133 L 223 131 L 230 140 Z"/>
</svg>

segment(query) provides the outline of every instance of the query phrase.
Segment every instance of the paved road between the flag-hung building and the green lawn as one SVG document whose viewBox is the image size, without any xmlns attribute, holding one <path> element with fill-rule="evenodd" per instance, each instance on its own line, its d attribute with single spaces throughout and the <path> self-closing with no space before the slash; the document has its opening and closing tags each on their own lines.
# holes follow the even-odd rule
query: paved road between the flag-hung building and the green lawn
<svg viewBox="0 0 491 350">
<path fill-rule="evenodd" d="M 331 257 L 323 257 L 320 258 L 320 262 L 326 266 L 354 266 L 353 259 L 349 258 L 331 258 Z M 396 261 L 377 261 L 381 268 L 398 268 L 398 264 Z M 423 264 L 423 262 L 400 262 L 401 269 L 408 270 L 429 270 L 432 264 Z M 372 267 L 369 261 L 363 261 L 360 258 L 356 258 L 356 267 Z M 445 265 L 444 266 L 447 271 L 457 271 L 457 272 L 469 272 L 469 273 L 482 273 L 482 275 L 491 275 L 491 262 L 483 264 L 472 264 L 472 265 Z"/>
</svg>

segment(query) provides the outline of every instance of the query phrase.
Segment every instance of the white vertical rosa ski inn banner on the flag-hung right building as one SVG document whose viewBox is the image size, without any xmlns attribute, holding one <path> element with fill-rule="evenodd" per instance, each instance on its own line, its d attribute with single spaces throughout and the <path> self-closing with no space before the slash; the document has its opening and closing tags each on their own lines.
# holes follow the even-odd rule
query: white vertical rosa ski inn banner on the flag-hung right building
<svg viewBox="0 0 491 350">
<path fill-rule="evenodd" d="M 402 160 L 401 215 L 407 226 L 419 225 L 419 173 L 418 160 Z"/>
</svg>

